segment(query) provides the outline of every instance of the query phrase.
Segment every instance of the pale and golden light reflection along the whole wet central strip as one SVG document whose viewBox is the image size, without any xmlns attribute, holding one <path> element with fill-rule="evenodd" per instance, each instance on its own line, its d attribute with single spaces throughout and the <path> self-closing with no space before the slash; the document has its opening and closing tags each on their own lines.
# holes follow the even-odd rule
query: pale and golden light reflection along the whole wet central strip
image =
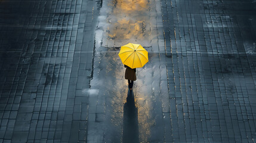
<svg viewBox="0 0 256 143">
<path fill-rule="evenodd" d="M 128 82 L 124 79 L 124 65 L 118 57 L 116 49 L 110 47 L 120 47 L 128 42 L 151 46 L 151 30 L 156 26 L 156 14 L 150 12 L 155 10 L 154 3 L 155 1 L 147 0 L 103 1 L 103 7 L 98 17 L 98 29 L 95 32 L 95 56 L 100 56 L 100 62 L 106 65 L 102 66 L 103 72 L 95 70 L 99 69 L 95 65 L 94 72 L 99 71 L 101 75 L 98 74 L 98 76 L 104 75 L 106 80 L 104 81 L 106 85 L 103 85 L 100 92 L 104 92 L 103 98 L 106 98 L 107 111 L 104 123 L 112 128 L 106 130 L 107 142 L 119 141 L 119 139 L 122 141 L 122 138 L 117 136 L 121 133 L 119 131 L 123 130 L 124 105 L 127 102 L 128 93 Z M 155 37 L 157 38 L 157 36 Z M 137 73 L 137 75 L 140 75 L 141 78 L 134 83 L 134 98 L 135 106 L 138 108 L 138 130 L 141 142 L 150 140 L 150 129 L 155 123 L 155 119 L 152 117 L 152 80 L 146 79 L 152 76 L 150 73 L 146 73 L 150 70 L 152 69 L 138 69 L 138 72 L 141 71 L 141 73 Z M 145 83 L 149 86 L 145 86 Z"/>
</svg>

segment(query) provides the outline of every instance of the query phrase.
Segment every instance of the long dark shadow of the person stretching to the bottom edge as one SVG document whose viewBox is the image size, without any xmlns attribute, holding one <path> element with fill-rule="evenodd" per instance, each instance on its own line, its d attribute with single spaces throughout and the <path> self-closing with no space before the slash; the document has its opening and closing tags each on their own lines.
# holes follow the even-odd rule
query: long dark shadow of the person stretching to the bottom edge
<svg viewBox="0 0 256 143">
<path fill-rule="evenodd" d="M 135 143 L 138 139 L 138 108 L 135 107 L 134 94 L 128 90 L 124 105 L 123 142 Z"/>
</svg>

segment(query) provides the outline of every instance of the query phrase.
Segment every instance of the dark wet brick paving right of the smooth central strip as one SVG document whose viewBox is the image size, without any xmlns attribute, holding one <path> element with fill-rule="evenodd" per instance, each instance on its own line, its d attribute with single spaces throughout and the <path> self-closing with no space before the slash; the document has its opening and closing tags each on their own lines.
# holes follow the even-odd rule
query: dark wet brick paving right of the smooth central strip
<svg viewBox="0 0 256 143">
<path fill-rule="evenodd" d="M 252 1 L 161 1 L 171 142 L 255 142 Z"/>
</svg>

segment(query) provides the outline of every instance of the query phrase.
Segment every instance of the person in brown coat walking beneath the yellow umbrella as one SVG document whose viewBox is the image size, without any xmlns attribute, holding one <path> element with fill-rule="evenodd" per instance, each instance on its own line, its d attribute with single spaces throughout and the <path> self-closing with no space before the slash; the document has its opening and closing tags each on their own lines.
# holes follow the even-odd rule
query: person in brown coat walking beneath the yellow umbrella
<svg viewBox="0 0 256 143">
<path fill-rule="evenodd" d="M 125 65 L 125 79 L 128 80 L 129 89 L 132 90 L 132 86 L 136 78 L 136 68 L 131 69 L 131 67 L 128 67 Z"/>
</svg>

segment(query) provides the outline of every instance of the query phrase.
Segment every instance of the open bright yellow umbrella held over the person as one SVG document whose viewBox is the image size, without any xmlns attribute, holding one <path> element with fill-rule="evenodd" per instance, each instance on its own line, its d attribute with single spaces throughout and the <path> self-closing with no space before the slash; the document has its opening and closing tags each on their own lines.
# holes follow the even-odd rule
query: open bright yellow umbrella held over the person
<svg viewBox="0 0 256 143">
<path fill-rule="evenodd" d="M 118 55 L 122 63 L 131 67 L 131 69 L 143 67 L 149 61 L 146 49 L 135 43 L 122 46 Z"/>
</svg>

